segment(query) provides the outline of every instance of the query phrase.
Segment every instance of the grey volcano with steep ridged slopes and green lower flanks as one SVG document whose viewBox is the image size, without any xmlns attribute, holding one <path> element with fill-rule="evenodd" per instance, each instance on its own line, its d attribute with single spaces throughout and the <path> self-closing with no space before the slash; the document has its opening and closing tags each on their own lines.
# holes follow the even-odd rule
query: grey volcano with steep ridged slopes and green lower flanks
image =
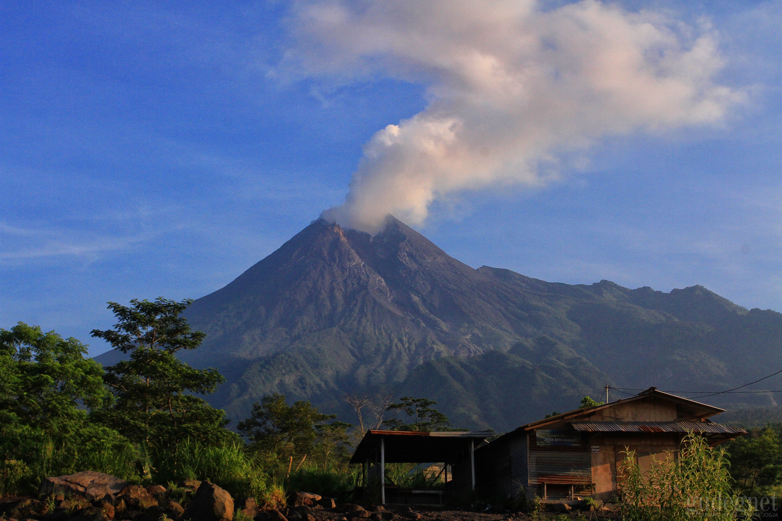
<svg viewBox="0 0 782 521">
<path fill-rule="evenodd" d="M 318 219 L 185 316 L 207 336 L 181 358 L 227 377 L 210 402 L 233 419 L 272 392 L 350 419 L 345 394 L 386 392 L 436 399 L 457 426 L 509 430 L 607 383 L 719 389 L 782 366 L 780 313 L 701 286 L 473 269 L 392 216 L 374 236 Z"/>
</svg>

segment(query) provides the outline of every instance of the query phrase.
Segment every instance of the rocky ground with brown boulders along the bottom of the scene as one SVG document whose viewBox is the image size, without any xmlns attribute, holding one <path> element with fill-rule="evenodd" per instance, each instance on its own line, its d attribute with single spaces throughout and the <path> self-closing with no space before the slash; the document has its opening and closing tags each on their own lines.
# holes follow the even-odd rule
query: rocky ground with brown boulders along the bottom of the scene
<svg viewBox="0 0 782 521">
<path fill-rule="evenodd" d="M 141 487 L 114 476 L 83 472 L 49 477 L 38 497 L 0 498 L 0 521 L 522 521 L 523 519 L 616 519 L 604 507 L 597 512 L 483 512 L 403 505 L 337 504 L 317 494 L 292 492 L 288 505 L 261 510 L 253 498 L 231 494 L 209 481 L 182 481 L 167 489 Z"/>
</svg>

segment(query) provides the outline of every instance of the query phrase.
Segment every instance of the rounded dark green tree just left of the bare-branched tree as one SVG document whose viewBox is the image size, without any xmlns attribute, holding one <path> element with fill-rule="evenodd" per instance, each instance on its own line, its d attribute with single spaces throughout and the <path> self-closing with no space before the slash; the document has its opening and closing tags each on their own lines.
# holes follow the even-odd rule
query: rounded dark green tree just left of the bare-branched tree
<svg viewBox="0 0 782 521">
<path fill-rule="evenodd" d="M 249 418 L 239 422 L 239 432 L 250 441 L 252 450 L 271 459 L 311 455 L 318 439 L 330 446 L 327 452 L 331 453 L 346 441 L 346 430 L 352 426 L 341 422 L 319 425 L 335 418 L 336 415 L 319 412 L 309 401 L 288 405 L 284 394 L 274 393 L 253 404 Z"/>
</svg>

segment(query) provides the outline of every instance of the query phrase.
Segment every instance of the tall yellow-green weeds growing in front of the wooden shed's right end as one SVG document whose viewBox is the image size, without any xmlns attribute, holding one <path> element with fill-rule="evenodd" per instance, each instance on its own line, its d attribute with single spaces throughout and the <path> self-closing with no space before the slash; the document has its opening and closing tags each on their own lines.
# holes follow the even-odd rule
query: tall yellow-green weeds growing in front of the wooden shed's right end
<svg viewBox="0 0 782 521">
<path fill-rule="evenodd" d="M 728 521 L 751 516 L 734 491 L 725 451 L 688 434 L 676 455 L 654 459 L 642 472 L 635 451 L 619 468 L 622 515 L 627 521 Z"/>
</svg>

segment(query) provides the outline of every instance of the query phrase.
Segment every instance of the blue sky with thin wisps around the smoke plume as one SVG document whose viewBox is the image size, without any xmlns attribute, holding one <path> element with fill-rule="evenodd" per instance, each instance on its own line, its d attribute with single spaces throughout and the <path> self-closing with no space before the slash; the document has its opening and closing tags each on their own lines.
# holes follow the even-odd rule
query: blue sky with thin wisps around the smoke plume
<svg viewBox="0 0 782 521">
<path fill-rule="evenodd" d="M 782 310 L 782 3 L 623 5 L 708 20 L 715 80 L 746 100 L 718 124 L 601 137 L 545 186 L 454 191 L 416 227 L 474 267 Z M 293 6 L 0 7 L 0 327 L 98 354 L 106 301 L 208 294 L 343 202 L 362 147 L 431 84 L 296 70 Z"/>
</svg>

